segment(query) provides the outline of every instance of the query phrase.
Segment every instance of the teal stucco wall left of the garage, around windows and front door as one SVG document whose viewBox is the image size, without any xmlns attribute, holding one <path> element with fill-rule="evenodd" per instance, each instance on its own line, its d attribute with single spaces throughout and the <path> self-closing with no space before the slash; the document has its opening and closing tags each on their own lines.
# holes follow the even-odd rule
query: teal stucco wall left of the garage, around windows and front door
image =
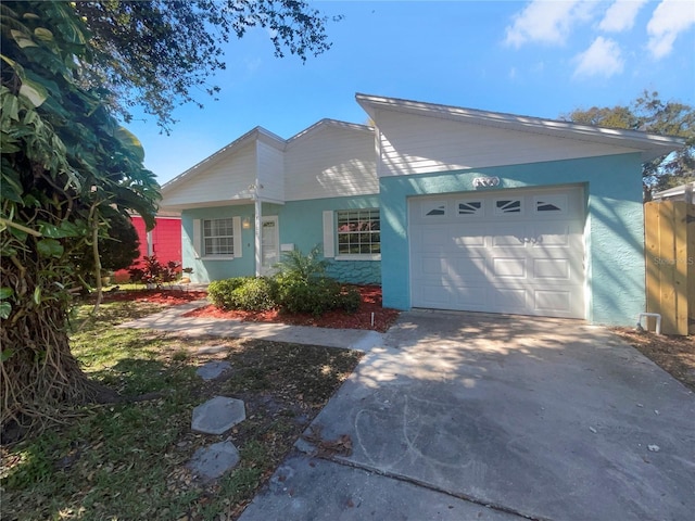
<svg viewBox="0 0 695 521">
<path fill-rule="evenodd" d="M 280 244 L 293 244 L 295 250 L 308 253 L 314 246 L 323 247 L 323 213 L 351 208 L 376 208 L 378 195 L 358 198 L 332 198 L 307 201 L 291 201 L 287 204 L 262 206 L 263 216 L 278 216 Z M 184 266 L 193 268 L 193 282 L 211 282 L 230 277 L 255 274 L 254 206 L 229 205 L 211 208 L 186 209 L 181 213 L 181 255 Z M 251 227 L 241 230 L 242 254 L 231 260 L 197 258 L 193 249 L 194 219 L 219 219 L 239 216 L 249 219 Z M 342 282 L 379 284 L 381 265 L 378 260 L 330 259 L 328 275 Z"/>
</svg>

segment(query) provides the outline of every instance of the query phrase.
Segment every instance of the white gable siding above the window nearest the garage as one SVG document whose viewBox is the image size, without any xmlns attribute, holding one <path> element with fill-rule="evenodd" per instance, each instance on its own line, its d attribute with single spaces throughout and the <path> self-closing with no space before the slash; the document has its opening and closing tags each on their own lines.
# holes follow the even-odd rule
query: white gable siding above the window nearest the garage
<svg viewBox="0 0 695 521">
<path fill-rule="evenodd" d="M 374 136 L 326 125 L 286 151 L 287 201 L 377 193 Z"/>
</svg>

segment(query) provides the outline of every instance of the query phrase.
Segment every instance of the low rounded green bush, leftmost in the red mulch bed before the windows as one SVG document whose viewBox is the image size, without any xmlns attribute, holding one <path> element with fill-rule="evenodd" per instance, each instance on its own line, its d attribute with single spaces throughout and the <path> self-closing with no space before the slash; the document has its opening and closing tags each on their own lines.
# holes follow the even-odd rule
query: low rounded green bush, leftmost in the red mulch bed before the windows
<svg viewBox="0 0 695 521">
<path fill-rule="evenodd" d="M 207 287 L 207 297 L 222 309 L 261 312 L 276 307 L 276 283 L 266 277 L 235 277 Z"/>
</svg>

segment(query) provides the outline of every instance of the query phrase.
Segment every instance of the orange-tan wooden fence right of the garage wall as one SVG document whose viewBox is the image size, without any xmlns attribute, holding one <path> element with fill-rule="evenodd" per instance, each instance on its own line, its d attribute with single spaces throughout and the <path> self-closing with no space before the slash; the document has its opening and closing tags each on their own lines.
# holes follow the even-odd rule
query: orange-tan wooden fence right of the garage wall
<svg viewBox="0 0 695 521">
<path fill-rule="evenodd" d="M 647 312 L 664 334 L 695 334 L 695 204 L 646 203 L 644 227 Z"/>
</svg>

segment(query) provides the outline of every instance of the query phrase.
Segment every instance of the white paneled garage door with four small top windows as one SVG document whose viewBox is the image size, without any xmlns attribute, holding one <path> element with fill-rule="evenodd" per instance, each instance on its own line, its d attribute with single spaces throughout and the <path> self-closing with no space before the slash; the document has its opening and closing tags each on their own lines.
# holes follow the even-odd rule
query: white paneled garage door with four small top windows
<svg viewBox="0 0 695 521">
<path fill-rule="evenodd" d="M 584 318 L 581 188 L 409 200 L 412 305 Z"/>
</svg>

